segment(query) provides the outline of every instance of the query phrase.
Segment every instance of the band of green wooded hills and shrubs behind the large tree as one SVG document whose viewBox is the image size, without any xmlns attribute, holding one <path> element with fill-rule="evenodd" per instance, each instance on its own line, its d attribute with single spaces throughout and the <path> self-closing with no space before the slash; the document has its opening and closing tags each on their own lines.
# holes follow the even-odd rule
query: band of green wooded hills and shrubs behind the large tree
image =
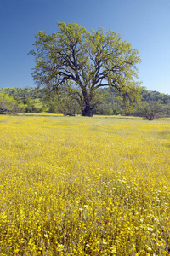
<svg viewBox="0 0 170 256">
<path fill-rule="evenodd" d="M 60 90 L 54 97 L 44 89 L 37 88 L 3 88 L 0 89 L 0 113 L 17 112 L 49 112 L 64 115 L 82 114 L 77 103 L 78 91 L 73 87 Z M 100 115 L 132 115 L 145 119 L 170 116 L 170 96 L 157 91 L 142 90 L 140 102 L 132 102 L 128 106 L 117 96 L 114 89 L 102 88 L 96 92 L 94 114 Z M 39 102 L 38 107 L 35 101 Z"/>
</svg>

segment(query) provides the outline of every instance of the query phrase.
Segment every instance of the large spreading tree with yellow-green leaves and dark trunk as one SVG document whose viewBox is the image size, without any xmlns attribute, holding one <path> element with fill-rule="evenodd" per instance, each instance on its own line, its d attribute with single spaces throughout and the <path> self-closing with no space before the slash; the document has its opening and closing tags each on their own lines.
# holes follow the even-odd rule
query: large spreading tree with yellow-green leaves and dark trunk
<svg viewBox="0 0 170 256">
<path fill-rule="evenodd" d="M 58 26 L 58 32 L 52 35 L 38 32 L 33 44 L 36 49 L 30 51 L 36 58 L 32 75 L 38 87 L 56 92 L 73 83 L 81 90 L 73 97 L 84 116 L 93 115 L 98 103 L 94 101 L 95 92 L 101 87 L 115 88 L 127 102 L 139 99 L 138 49 L 111 30 L 88 32 L 74 22 L 58 22 Z"/>
</svg>

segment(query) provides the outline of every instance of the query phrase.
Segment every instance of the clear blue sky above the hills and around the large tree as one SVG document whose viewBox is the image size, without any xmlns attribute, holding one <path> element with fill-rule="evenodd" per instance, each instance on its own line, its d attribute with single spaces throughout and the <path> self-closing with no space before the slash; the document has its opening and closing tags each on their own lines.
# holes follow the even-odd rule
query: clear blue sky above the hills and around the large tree
<svg viewBox="0 0 170 256">
<path fill-rule="evenodd" d="M 57 21 L 120 33 L 139 49 L 143 86 L 170 94 L 170 0 L 0 0 L 0 88 L 35 86 L 27 54 Z"/>
</svg>

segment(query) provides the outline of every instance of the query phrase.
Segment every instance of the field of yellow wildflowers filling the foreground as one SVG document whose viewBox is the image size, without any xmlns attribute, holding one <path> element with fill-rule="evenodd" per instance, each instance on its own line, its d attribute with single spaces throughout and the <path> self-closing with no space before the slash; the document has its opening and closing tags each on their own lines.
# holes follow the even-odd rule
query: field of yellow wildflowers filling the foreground
<svg viewBox="0 0 170 256">
<path fill-rule="evenodd" d="M 0 116 L 0 255 L 170 255 L 170 119 Z"/>
</svg>

